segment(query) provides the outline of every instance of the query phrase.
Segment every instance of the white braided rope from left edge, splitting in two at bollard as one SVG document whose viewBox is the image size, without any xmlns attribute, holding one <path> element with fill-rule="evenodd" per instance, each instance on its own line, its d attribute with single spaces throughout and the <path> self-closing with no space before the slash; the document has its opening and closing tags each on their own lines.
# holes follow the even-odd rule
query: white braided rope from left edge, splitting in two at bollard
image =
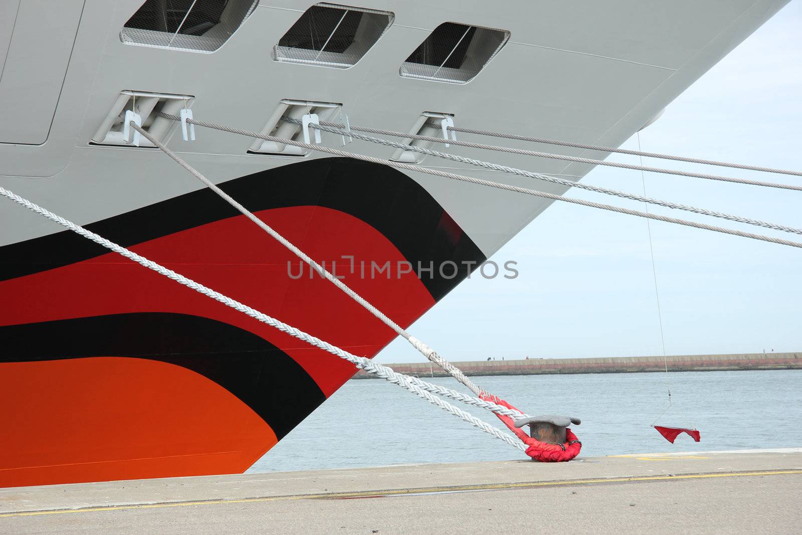
<svg viewBox="0 0 802 535">
<path fill-rule="evenodd" d="M 294 326 L 290 326 L 276 318 L 272 318 L 267 314 L 264 314 L 258 310 L 251 308 L 250 306 L 244 305 L 241 302 L 238 302 L 232 298 L 221 294 L 211 288 L 202 285 L 199 282 L 195 282 L 190 278 L 184 277 L 184 275 L 178 274 L 173 270 L 168 270 L 163 265 L 157 264 L 155 261 L 148 260 L 133 251 L 124 248 L 122 245 L 118 245 L 113 241 L 109 241 L 104 237 L 99 236 L 91 232 L 90 230 L 84 229 L 80 225 L 76 225 L 72 221 L 68 221 L 63 217 L 56 215 L 55 213 L 50 212 L 47 209 L 43 209 L 41 206 L 35 205 L 34 203 L 26 200 L 23 197 L 18 196 L 16 193 L 13 193 L 6 188 L 2 188 L 0 186 L 0 195 L 10 199 L 11 201 L 16 202 L 18 205 L 24 206 L 26 209 L 31 210 L 32 212 L 38 213 L 43 217 L 47 217 L 47 219 L 70 229 L 74 233 L 77 233 L 91 241 L 99 245 L 103 245 L 106 249 L 110 249 L 115 253 L 118 253 L 129 260 L 135 261 L 137 264 L 143 265 L 144 267 L 148 268 L 148 270 L 156 271 L 156 273 L 164 275 L 164 277 L 170 278 L 175 282 L 178 282 L 181 285 L 187 286 L 188 288 L 195 290 L 200 294 L 204 294 L 206 297 L 212 298 L 217 302 L 221 302 L 225 306 L 229 306 L 234 310 L 241 312 L 251 318 L 256 319 L 259 322 L 265 323 L 269 326 L 276 328 L 277 330 L 281 330 L 286 334 L 290 334 L 290 336 L 294 336 L 304 342 L 309 343 L 314 347 L 318 347 L 323 351 L 327 351 L 331 355 L 337 355 L 341 359 L 345 359 L 348 362 L 354 364 L 355 367 L 363 369 L 368 373 L 375 374 L 382 379 L 389 381 L 390 383 L 397 384 L 400 387 L 411 391 L 413 394 L 418 395 L 419 397 L 426 399 L 429 403 L 433 403 L 438 407 L 442 408 L 444 411 L 450 412 L 452 415 L 456 415 L 460 419 L 464 419 L 469 424 L 472 424 L 476 428 L 480 428 L 482 431 L 489 433 L 492 436 L 495 436 L 497 439 L 504 440 L 507 444 L 510 444 L 513 448 L 520 449 L 521 451 L 526 449 L 525 444 L 521 443 L 520 440 L 508 435 L 507 433 L 502 432 L 500 429 L 492 427 L 492 425 L 483 422 L 481 419 L 476 418 L 476 416 L 468 414 L 468 412 L 462 411 L 458 407 L 454 407 L 451 403 L 440 399 L 436 395 L 431 395 L 430 392 L 435 392 L 439 395 L 444 395 L 450 397 L 452 399 L 456 399 L 462 401 L 464 403 L 468 403 L 473 405 L 474 407 L 480 407 L 484 409 L 488 409 L 493 412 L 497 412 L 499 414 L 504 414 L 511 416 L 512 418 L 521 418 L 525 417 L 519 411 L 512 411 L 507 407 L 502 407 L 497 405 L 496 403 L 490 403 L 488 401 L 484 401 L 483 399 L 476 399 L 469 395 L 460 394 L 460 392 L 452 391 L 446 387 L 440 387 L 438 385 L 434 385 L 431 383 L 426 383 L 416 377 L 411 377 L 409 375 L 399 374 L 396 371 L 393 371 L 392 368 L 387 366 L 382 366 L 379 363 L 374 363 L 370 359 L 366 359 L 364 357 L 358 357 L 357 355 L 352 355 L 348 351 L 345 351 L 339 347 L 333 346 L 329 342 L 325 342 L 320 338 L 316 338 L 311 334 L 308 334 L 300 329 L 295 328 Z"/>
</svg>

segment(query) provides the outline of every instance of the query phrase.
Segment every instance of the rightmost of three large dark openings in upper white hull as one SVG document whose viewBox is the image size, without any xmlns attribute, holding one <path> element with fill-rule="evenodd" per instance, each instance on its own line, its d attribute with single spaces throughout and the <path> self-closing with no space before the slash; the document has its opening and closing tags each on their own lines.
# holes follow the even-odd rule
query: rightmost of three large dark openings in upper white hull
<svg viewBox="0 0 802 535">
<path fill-rule="evenodd" d="M 509 39 L 506 30 L 444 22 L 401 64 L 407 78 L 468 83 Z"/>
</svg>

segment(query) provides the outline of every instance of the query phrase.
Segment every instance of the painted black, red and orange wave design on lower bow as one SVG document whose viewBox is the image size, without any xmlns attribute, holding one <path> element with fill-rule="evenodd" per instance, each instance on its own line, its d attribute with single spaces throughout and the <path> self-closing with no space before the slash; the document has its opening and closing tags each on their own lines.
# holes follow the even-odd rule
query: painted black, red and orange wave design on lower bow
<svg viewBox="0 0 802 535">
<path fill-rule="evenodd" d="M 484 260 L 391 168 L 314 160 L 221 187 L 403 326 Z M 87 226 L 355 355 L 395 336 L 208 190 Z M 83 240 L 0 248 L 0 486 L 243 472 L 355 372 Z"/>
</svg>

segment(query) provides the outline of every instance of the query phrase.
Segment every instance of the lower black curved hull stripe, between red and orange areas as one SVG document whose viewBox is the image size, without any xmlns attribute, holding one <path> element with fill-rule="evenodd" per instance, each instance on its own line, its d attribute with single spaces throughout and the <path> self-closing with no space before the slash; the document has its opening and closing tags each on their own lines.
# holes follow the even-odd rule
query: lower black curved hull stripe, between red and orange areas
<svg viewBox="0 0 802 535">
<path fill-rule="evenodd" d="M 0 363 L 123 356 L 187 368 L 236 395 L 279 439 L 326 400 L 284 351 L 247 330 L 199 316 L 136 313 L 28 323 L 0 327 L 0 339 Z M 288 406 L 293 408 L 283 408 Z"/>
</svg>

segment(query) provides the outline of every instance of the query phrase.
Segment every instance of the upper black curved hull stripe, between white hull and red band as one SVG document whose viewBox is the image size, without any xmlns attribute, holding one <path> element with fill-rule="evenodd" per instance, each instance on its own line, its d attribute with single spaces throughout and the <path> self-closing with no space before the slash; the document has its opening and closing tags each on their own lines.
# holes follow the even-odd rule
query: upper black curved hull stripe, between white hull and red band
<svg viewBox="0 0 802 535">
<path fill-rule="evenodd" d="M 220 187 L 252 212 L 317 205 L 348 213 L 387 237 L 413 266 L 418 262 L 423 267 L 430 261 L 435 266 L 456 262 L 461 268 L 456 278 L 442 277 L 435 267 L 431 278 L 421 279 L 435 300 L 443 298 L 467 275 L 461 262 L 485 260 L 476 244 L 424 188 L 387 166 L 350 158 L 307 160 L 229 180 Z M 204 188 L 85 226 L 120 245 L 131 246 L 237 215 Z M 68 230 L 5 245 L 0 247 L 0 281 L 107 252 Z M 446 272 L 451 274 L 451 268 Z"/>
</svg>

